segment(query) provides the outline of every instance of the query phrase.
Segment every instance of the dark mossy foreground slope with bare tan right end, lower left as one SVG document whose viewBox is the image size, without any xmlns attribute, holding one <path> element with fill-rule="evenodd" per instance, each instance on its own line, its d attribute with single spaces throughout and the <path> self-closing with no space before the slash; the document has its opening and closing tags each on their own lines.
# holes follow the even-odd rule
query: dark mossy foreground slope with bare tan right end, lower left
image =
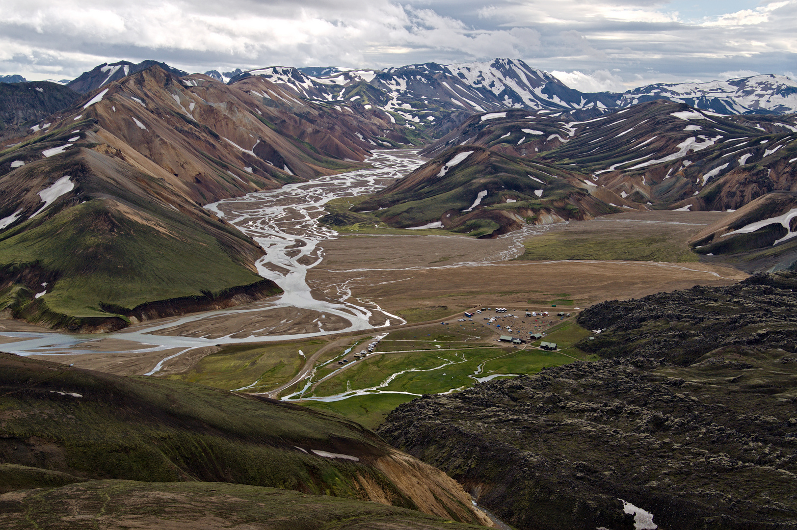
<svg viewBox="0 0 797 530">
<path fill-rule="evenodd" d="M 306 407 L 8 354 L 0 354 L 0 396 L 5 463 L 80 479 L 293 489 L 479 520 L 445 473 Z M 39 480 L 16 473 L 21 484 Z"/>
</svg>

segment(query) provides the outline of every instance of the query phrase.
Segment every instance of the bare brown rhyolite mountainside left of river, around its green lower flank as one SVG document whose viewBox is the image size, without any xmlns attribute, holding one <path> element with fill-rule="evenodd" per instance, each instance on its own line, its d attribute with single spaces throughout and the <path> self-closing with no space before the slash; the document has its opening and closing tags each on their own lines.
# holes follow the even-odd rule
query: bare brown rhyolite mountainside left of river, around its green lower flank
<svg viewBox="0 0 797 530">
<path fill-rule="evenodd" d="M 90 230 L 101 232 L 98 234 L 100 238 L 118 239 L 121 234 L 118 226 L 133 223 L 132 226 L 143 226 L 144 230 L 155 230 L 164 238 L 171 238 L 169 245 L 176 245 L 172 247 L 175 253 L 190 255 L 195 251 L 178 248 L 181 230 L 175 227 L 175 222 L 184 224 L 190 222 L 187 219 L 193 219 L 198 223 L 192 227 L 214 238 L 222 252 L 234 261 L 228 267 L 230 272 L 238 266 L 247 272 L 237 273 L 234 275 L 236 278 L 229 281 L 222 277 L 212 288 L 193 285 L 190 289 L 173 292 L 171 285 L 164 284 L 162 292 L 148 293 L 142 300 L 130 302 L 113 300 L 112 293 L 103 295 L 100 300 L 87 302 L 93 308 L 91 315 L 101 319 L 105 315 L 97 308 L 112 308 L 111 313 L 139 317 L 150 312 L 133 311 L 136 304 L 175 300 L 175 308 L 164 306 L 167 312 L 159 313 L 163 316 L 172 311 L 183 311 L 176 307 L 183 302 L 176 299 L 181 296 L 203 299 L 201 292 L 206 289 L 215 293 L 221 288 L 226 293 L 212 296 L 213 300 L 205 300 L 210 303 L 207 308 L 225 307 L 236 300 L 240 302 L 264 296 L 259 288 L 248 294 L 228 292 L 243 285 L 255 285 L 253 282 L 257 277 L 253 274 L 253 263 L 262 251 L 253 241 L 201 206 L 221 198 L 363 167 L 360 161 L 375 145 L 371 135 L 379 132 L 381 123 L 375 119 L 368 127 L 353 131 L 350 129 L 359 124 L 356 116 L 345 117 L 336 109 L 304 104 L 277 87 L 269 90 L 271 96 L 281 97 L 295 105 L 269 105 L 263 97 L 218 83 L 210 77 L 180 78 L 158 66 L 104 84 L 78 104 L 42 122 L 41 130 L 31 130 L 30 134 L 18 139 L 20 143 L 0 152 L 0 186 L 3 191 L 0 218 L 8 218 L 0 238 L 11 241 L 10 238 L 17 237 L 13 245 L 20 244 L 18 240 L 27 237 L 23 233 L 52 221 L 65 209 L 81 206 L 85 210 L 84 202 L 95 200 L 103 204 L 96 203 L 93 210 L 98 207 L 108 210 L 113 219 L 111 222 L 88 222 Z M 53 154 L 49 151 L 52 149 L 57 152 Z M 36 219 L 30 218 L 42 206 L 39 192 L 63 177 L 71 179 L 73 189 L 61 194 L 53 205 L 37 214 Z M 100 214 L 100 217 L 104 215 Z M 172 219 L 175 216 L 177 218 Z M 67 224 L 75 223 L 71 220 Z M 52 232 L 55 234 L 59 230 L 53 228 Z M 41 229 L 34 238 L 46 246 L 47 242 L 42 242 L 42 238 L 46 239 L 42 232 L 46 233 Z M 194 242 L 196 235 L 190 236 Z M 208 242 L 195 244 L 207 245 Z M 84 252 L 82 248 L 74 250 Z M 25 259 L 32 263 L 43 262 L 49 257 L 36 252 L 39 251 Z M 140 261 L 147 255 L 129 245 L 128 248 L 108 249 L 108 252 L 128 262 Z M 10 253 L 19 254 L 13 250 Z M 14 267 L 17 265 L 28 267 L 29 264 L 17 263 Z M 156 269 L 157 266 L 151 265 L 150 268 Z M 61 317 L 65 312 L 68 315 L 69 311 L 39 307 L 52 305 L 48 297 L 55 296 L 53 293 L 59 289 L 57 284 L 52 285 L 52 280 L 63 276 L 62 269 L 54 266 L 54 270 L 45 274 L 51 276 L 51 289 L 41 300 L 33 300 L 38 286 L 35 281 L 41 283 L 47 278 L 34 278 L 34 283 L 21 292 L 14 287 L 22 279 L 19 273 L 2 273 L 3 288 L 17 293 L 12 314 L 62 328 L 77 326 L 75 329 L 84 331 L 126 325 L 124 318 L 112 318 L 112 322 L 101 325 L 88 324 L 88 321 L 66 323 Z M 191 273 L 190 267 L 184 272 Z M 91 277 L 93 269 L 89 267 L 82 274 Z M 29 300 L 22 300 L 26 296 Z M 197 301 L 202 300 L 187 300 L 192 310 L 201 308 L 202 304 L 197 305 Z M 36 308 L 20 308 L 29 303 Z M 120 304 L 121 307 L 117 307 Z M 127 310 L 123 311 L 125 308 Z M 45 317 L 45 309 L 53 309 L 55 314 Z M 60 324 L 54 324 L 56 321 Z"/>
</svg>

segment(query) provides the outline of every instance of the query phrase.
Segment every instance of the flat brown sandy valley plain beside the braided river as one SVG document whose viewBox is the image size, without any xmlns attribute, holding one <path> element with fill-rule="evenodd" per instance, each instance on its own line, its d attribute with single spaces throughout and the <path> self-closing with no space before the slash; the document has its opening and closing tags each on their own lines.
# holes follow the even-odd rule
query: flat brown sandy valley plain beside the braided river
<svg viewBox="0 0 797 530">
<path fill-rule="evenodd" d="M 722 212 L 649 211 L 618 214 L 590 222 L 529 227 L 523 233 L 479 240 L 464 236 L 355 235 L 323 241 L 324 260 L 308 269 L 308 285 L 316 299 L 348 301 L 361 307 L 383 308 L 410 322 L 453 315 L 477 306 L 550 308 L 557 299 L 569 308 L 585 308 L 603 300 L 637 298 L 685 289 L 693 285 L 728 285 L 747 277 L 731 266 L 700 262 L 655 261 L 519 261 L 507 259 L 524 251 L 523 243 L 563 232 L 579 237 L 617 238 L 618 228 L 628 238 L 657 234 L 672 245 L 685 245 L 694 233 L 722 218 Z M 297 308 L 265 309 L 267 300 L 232 311 L 209 313 L 199 320 L 179 317 L 151 320 L 125 331 L 159 326 L 160 336 L 206 337 L 304 334 L 344 328 L 340 317 Z M 322 318 L 323 317 L 323 318 Z M 392 320 L 391 328 L 397 324 Z M 170 325 L 173 324 L 173 325 Z M 373 320 L 383 326 L 384 320 Z M 16 320 L 0 320 L 0 332 L 50 333 Z M 328 340 L 336 340 L 329 336 Z M 0 336 L 0 344 L 18 341 Z M 163 364 L 163 374 L 184 371 L 216 347 L 195 348 Z M 50 349 L 37 358 L 120 375 L 146 374 L 160 360 L 180 348 L 152 348 L 119 336 L 85 336 L 63 349 Z"/>
</svg>

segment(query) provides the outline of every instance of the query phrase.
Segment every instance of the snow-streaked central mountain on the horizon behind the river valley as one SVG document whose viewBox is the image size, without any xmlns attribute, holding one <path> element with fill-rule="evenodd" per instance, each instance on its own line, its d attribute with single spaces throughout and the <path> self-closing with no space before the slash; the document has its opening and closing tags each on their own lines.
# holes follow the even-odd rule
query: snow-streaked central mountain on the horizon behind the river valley
<svg viewBox="0 0 797 530">
<path fill-rule="evenodd" d="M 397 124 L 421 130 L 434 127 L 439 132 L 447 132 L 476 112 L 526 108 L 579 111 L 579 117 L 587 118 L 618 105 L 614 95 L 579 92 L 549 73 L 511 59 L 459 65 L 426 63 L 383 71 L 334 71 L 317 76 L 273 66 L 249 70 L 232 78 L 230 84 L 253 76 L 301 98 L 379 108 Z"/>
</svg>

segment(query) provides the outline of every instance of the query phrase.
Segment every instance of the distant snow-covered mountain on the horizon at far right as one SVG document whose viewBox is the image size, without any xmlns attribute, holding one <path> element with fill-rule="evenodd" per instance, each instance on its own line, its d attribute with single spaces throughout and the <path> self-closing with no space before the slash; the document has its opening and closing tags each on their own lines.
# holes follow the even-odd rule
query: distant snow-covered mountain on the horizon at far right
<svg viewBox="0 0 797 530">
<path fill-rule="evenodd" d="M 788 114 L 797 112 L 797 81 L 773 74 L 708 83 L 649 84 L 620 95 L 621 107 L 651 100 L 670 100 L 720 114 Z"/>
</svg>

